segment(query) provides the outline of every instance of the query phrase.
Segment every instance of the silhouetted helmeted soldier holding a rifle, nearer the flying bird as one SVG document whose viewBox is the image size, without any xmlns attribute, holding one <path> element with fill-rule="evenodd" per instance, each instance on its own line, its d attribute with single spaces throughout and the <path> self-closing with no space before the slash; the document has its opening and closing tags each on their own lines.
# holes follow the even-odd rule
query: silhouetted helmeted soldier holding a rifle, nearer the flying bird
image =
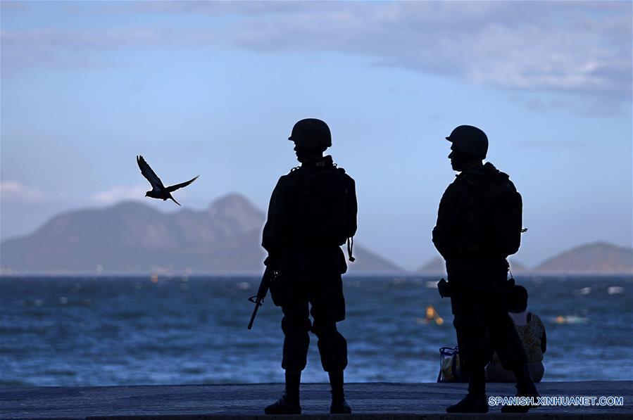
<svg viewBox="0 0 633 420">
<path fill-rule="evenodd" d="M 284 312 L 286 389 L 265 413 L 301 413 L 299 383 L 306 367 L 308 331 L 318 337 L 321 364 L 330 376 L 330 412 L 351 413 L 343 393 L 347 342 L 337 330 L 337 322 L 345 319 L 341 274 L 347 270 L 340 246 L 348 241 L 353 261 L 349 238 L 356 233 L 356 189 L 353 179 L 332 163 L 332 157 L 323 156 L 332 146 L 325 122 L 301 120 L 292 128 L 289 140 L 294 141 L 301 166 L 280 177 L 272 191 L 262 241 L 268 251 L 266 267 L 278 272 L 270 293 Z"/>
</svg>

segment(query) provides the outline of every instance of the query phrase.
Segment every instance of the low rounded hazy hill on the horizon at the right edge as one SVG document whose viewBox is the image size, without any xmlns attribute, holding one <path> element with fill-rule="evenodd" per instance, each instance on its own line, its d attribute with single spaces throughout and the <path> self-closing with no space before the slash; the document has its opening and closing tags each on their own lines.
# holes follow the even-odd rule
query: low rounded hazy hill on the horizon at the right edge
<svg viewBox="0 0 633 420">
<path fill-rule="evenodd" d="M 596 242 L 549 258 L 534 271 L 541 273 L 633 273 L 633 248 Z"/>
</svg>

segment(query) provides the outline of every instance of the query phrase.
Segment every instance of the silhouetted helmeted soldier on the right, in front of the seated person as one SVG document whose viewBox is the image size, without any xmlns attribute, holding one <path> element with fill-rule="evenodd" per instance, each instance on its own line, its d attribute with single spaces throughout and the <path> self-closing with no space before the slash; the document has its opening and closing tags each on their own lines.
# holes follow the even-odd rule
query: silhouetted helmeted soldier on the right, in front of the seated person
<svg viewBox="0 0 633 420">
<path fill-rule="evenodd" d="M 469 374 L 468 395 L 446 411 L 487 412 L 484 367 L 492 350 L 515 373 L 518 395 L 538 395 L 506 306 L 506 257 L 520 246 L 522 202 L 507 174 L 483 165 L 488 138 L 482 130 L 460 125 L 446 139 L 452 142 L 451 166 L 460 174 L 439 203 L 433 243 L 446 260 L 449 282 L 441 281 L 439 291 L 451 297 L 460 357 Z"/>
</svg>

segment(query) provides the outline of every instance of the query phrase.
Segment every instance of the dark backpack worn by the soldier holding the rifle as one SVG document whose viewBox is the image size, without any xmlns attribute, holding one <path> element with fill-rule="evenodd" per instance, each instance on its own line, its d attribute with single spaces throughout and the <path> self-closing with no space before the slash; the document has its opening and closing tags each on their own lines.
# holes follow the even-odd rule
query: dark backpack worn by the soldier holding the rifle
<svg viewBox="0 0 633 420">
<path fill-rule="evenodd" d="M 311 244 L 343 245 L 348 242 L 349 259 L 356 234 L 356 187 L 339 167 L 315 172 L 293 170 L 296 194 L 295 234 Z M 351 244 L 350 244 L 351 240 Z"/>
</svg>

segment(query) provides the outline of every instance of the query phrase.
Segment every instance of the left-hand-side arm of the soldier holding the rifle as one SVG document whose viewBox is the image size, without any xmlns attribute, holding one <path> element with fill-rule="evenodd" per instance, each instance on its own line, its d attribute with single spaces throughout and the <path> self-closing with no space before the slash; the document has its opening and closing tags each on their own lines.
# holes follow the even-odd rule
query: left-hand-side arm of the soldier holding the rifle
<svg viewBox="0 0 633 420">
<path fill-rule="evenodd" d="M 280 177 L 270 196 L 268 217 L 264 225 L 261 245 L 268 251 L 266 267 L 277 269 L 284 241 L 288 235 L 288 207 L 291 185 L 288 175 Z"/>
</svg>

